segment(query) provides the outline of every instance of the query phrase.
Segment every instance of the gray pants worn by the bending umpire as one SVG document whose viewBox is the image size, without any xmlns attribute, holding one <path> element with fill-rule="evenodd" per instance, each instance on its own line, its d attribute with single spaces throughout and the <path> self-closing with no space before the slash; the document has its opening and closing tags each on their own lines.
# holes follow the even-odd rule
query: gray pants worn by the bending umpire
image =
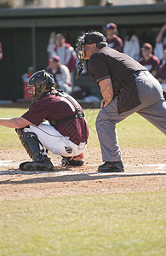
<svg viewBox="0 0 166 256">
<path fill-rule="evenodd" d="M 166 134 L 166 102 L 163 98 L 161 84 L 147 71 L 142 71 L 135 78 L 135 82 L 141 102 L 138 107 L 118 114 L 116 97 L 106 108 L 102 108 L 97 116 L 96 130 L 103 161 L 122 160 L 116 124 L 132 113 L 139 113 Z"/>
</svg>

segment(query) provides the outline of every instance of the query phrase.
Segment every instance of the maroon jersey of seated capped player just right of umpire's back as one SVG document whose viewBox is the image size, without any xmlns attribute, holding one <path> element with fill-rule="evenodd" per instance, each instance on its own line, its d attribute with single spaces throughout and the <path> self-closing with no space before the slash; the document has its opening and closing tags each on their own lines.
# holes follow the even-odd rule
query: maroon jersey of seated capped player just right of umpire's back
<svg viewBox="0 0 166 256">
<path fill-rule="evenodd" d="M 151 55 L 149 60 L 145 60 L 143 57 L 140 58 L 140 64 L 146 67 L 146 69 L 152 73 L 153 70 L 158 70 L 158 67 L 160 65 L 160 61 L 155 55 Z"/>
</svg>

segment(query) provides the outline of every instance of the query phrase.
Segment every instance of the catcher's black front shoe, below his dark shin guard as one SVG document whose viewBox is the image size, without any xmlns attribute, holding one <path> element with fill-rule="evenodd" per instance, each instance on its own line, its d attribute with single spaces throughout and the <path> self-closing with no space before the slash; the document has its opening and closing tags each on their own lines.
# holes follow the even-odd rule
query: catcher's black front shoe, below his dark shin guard
<svg viewBox="0 0 166 256">
<path fill-rule="evenodd" d="M 22 171 L 52 171 L 54 166 L 51 160 L 45 155 L 43 161 L 23 162 L 20 164 Z"/>
</svg>

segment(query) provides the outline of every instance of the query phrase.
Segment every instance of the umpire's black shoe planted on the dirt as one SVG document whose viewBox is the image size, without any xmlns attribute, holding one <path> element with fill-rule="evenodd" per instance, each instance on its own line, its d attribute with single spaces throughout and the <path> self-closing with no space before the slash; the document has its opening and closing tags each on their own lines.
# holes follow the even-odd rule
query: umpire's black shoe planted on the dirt
<svg viewBox="0 0 166 256">
<path fill-rule="evenodd" d="M 124 166 L 122 161 L 108 162 L 98 167 L 98 172 L 124 172 Z"/>
</svg>

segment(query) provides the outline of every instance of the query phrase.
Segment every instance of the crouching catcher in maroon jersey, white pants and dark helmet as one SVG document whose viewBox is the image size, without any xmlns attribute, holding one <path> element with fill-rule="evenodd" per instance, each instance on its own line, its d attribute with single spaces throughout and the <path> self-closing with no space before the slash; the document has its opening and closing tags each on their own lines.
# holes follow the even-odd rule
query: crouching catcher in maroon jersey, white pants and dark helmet
<svg viewBox="0 0 166 256">
<path fill-rule="evenodd" d="M 82 166 L 89 137 L 83 109 L 72 96 L 54 89 L 54 78 L 45 70 L 34 73 L 27 86 L 29 110 L 19 118 L 0 119 L 0 125 L 15 128 L 32 159 L 21 163 L 20 170 L 53 170 L 48 150 L 62 156 L 62 165 Z"/>
</svg>

